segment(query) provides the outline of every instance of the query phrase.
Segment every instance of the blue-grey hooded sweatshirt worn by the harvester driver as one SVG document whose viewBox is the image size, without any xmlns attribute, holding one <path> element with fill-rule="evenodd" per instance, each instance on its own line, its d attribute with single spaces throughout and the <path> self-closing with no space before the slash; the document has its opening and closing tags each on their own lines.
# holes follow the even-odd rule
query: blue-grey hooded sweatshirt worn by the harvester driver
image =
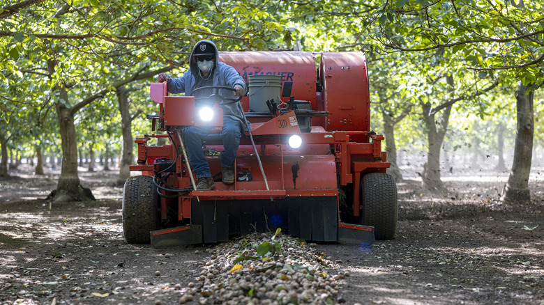
<svg viewBox="0 0 544 305">
<path fill-rule="evenodd" d="M 245 81 L 238 74 L 238 72 L 236 72 L 236 70 L 230 65 L 219 61 L 219 52 L 216 44 L 211 42 L 210 40 L 200 40 L 199 42 L 197 42 L 195 47 L 192 48 L 191 56 L 189 58 L 189 70 L 185 72 L 182 77 L 168 79 L 168 92 L 185 93 L 186 96 L 190 96 L 190 92 L 195 89 L 195 78 L 200 77 L 197 66 L 197 58 L 195 57 L 195 49 L 200 42 L 208 42 L 210 45 L 213 46 L 213 49 L 215 49 L 216 60 L 213 64 L 213 70 L 211 71 L 213 73 L 213 86 L 228 86 L 233 88 L 234 86 L 239 85 L 247 91 L 247 88 L 245 88 Z M 219 89 L 219 94 L 222 97 L 236 97 L 234 95 L 234 91 L 225 89 Z M 199 107 L 198 104 L 196 106 Z M 223 116 L 227 116 L 241 122 L 243 126 L 243 132 L 245 132 L 245 123 L 243 122 L 242 114 L 240 113 L 238 103 L 224 104 L 221 105 L 221 108 L 223 109 Z"/>
</svg>

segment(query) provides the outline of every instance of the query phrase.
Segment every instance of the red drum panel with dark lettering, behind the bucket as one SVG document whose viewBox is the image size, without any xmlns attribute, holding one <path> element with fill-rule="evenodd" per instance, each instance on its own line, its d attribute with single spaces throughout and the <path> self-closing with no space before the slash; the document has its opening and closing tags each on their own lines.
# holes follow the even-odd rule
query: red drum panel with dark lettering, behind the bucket
<svg viewBox="0 0 544 305">
<path fill-rule="evenodd" d="M 316 68 L 312 52 L 219 52 L 220 61 L 232 65 L 246 84 L 250 75 L 281 75 L 281 97 L 287 102 L 312 102 L 315 109 Z M 242 106 L 249 109 L 249 97 L 243 97 Z"/>
</svg>

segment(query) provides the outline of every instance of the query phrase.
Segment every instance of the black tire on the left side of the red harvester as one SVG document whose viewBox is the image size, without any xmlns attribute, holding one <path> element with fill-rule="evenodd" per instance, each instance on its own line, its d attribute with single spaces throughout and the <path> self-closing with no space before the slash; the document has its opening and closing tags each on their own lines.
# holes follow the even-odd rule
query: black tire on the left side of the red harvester
<svg viewBox="0 0 544 305">
<path fill-rule="evenodd" d="M 158 194 L 153 177 L 130 177 L 123 188 L 123 234 L 129 244 L 149 244 L 158 229 Z"/>
</svg>

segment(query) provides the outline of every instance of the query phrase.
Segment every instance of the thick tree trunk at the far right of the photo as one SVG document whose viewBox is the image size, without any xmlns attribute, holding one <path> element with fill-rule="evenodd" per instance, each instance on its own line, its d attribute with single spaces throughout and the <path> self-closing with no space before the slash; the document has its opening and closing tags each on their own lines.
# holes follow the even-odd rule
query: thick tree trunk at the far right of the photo
<svg viewBox="0 0 544 305">
<path fill-rule="evenodd" d="M 527 86 L 519 82 L 515 91 L 517 127 L 515 134 L 514 159 L 508 182 L 504 186 L 501 200 L 512 203 L 531 201 L 529 173 L 533 156 L 534 136 L 534 92 L 525 94 Z"/>
</svg>

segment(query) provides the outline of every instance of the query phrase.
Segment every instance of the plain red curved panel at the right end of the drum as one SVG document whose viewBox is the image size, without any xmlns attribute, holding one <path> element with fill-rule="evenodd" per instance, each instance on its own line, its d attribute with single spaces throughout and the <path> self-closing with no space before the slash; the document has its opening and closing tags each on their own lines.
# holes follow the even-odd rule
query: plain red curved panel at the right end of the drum
<svg viewBox="0 0 544 305">
<path fill-rule="evenodd" d="M 366 57 L 362 52 L 323 53 L 319 64 L 325 129 L 370 130 L 370 95 Z"/>
</svg>

